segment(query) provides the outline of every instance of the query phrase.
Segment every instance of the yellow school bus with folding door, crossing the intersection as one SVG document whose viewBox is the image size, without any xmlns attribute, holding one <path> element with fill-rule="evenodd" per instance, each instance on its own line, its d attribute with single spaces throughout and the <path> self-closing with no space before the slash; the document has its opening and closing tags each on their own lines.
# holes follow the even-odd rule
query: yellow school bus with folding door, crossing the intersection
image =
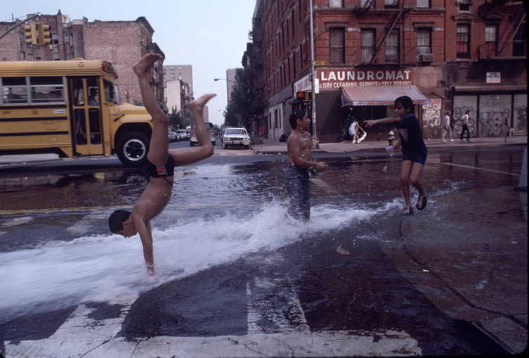
<svg viewBox="0 0 529 358">
<path fill-rule="evenodd" d="M 0 61 L 0 155 L 116 153 L 144 165 L 152 119 L 119 104 L 117 77 L 103 60 Z"/>
</svg>

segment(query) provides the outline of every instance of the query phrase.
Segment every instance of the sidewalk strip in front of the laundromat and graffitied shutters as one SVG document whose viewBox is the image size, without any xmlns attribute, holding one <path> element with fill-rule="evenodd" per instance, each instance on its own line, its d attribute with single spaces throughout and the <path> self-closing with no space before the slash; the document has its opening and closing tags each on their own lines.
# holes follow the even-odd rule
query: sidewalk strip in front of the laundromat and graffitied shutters
<svg viewBox="0 0 529 358">
<path fill-rule="evenodd" d="M 426 146 L 429 150 L 438 148 L 490 148 L 500 146 L 514 146 L 527 145 L 527 136 L 512 136 L 505 137 L 483 137 L 472 138 L 470 142 L 460 141 L 455 139 L 453 142 L 443 142 L 440 139 L 425 140 Z M 387 141 L 363 141 L 362 143 L 352 144 L 351 141 L 343 141 L 341 143 L 320 143 L 319 149 L 313 149 L 312 153 L 354 153 L 356 151 L 381 151 L 384 152 L 384 147 L 388 146 Z M 274 139 L 263 139 L 263 144 L 251 146 L 254 153 L 258 154 L 286 154 L 287 143 L 280 142 Z"/>
</svg>

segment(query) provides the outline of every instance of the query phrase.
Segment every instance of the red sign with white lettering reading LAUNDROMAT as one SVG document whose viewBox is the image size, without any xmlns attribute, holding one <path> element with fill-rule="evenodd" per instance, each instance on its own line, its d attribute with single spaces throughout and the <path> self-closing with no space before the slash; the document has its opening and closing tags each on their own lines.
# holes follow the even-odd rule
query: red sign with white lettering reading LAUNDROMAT
<svg viewBox="0 0 529 358">
<path fill-rule="evenodd" d="M 412 71 L 407 69 L 380 70 L 318 70 L 320 91 L 332 91 L 342 87 L 410 86 Z"/>
</svg>

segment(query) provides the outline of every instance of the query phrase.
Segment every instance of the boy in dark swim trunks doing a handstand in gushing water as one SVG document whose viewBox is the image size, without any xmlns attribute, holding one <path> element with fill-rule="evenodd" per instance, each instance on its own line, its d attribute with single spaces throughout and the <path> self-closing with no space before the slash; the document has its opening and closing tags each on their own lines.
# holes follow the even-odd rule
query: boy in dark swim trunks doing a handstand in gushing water
<svg viewBox="0 0 529 358">
<path fill-rule="evenodd" d="M 148 53 L 133 66 L 138 76 L 141 89 L 141 97 L 145 108 L 152 117 L 154 129 L 150 137 L 149 153 L 147 155 L 147 167 L 145 172 L 150 176 L 150 181 L 141 194 L 132 212 L 116 210 L 110 215 L 110 231 L 120 234 L 126 238 L 140 234 L 143 245 L 143 257 L 150 274 L 154 274 L 155 260 L 152 255 L 152 233 L 150 219 L 158 215 L 171 199 L 173 189 L 174 167 L 176 165 L 188 165 L 213 154 L 213 145 L 209 139 L 202 110 L 204 105 L 216 96 L 215 94 L 204 94 L 204 96 L 191 101 L 189 107 L 195 117 L 197 128 L 197 139 L 199 148 L 176 149 L 169 151 L 168 119 L 159 108 L 158 103 L 149 84 L 149 70 L 156 61 L 164 58 L 157 53 Z"/>
</svg>

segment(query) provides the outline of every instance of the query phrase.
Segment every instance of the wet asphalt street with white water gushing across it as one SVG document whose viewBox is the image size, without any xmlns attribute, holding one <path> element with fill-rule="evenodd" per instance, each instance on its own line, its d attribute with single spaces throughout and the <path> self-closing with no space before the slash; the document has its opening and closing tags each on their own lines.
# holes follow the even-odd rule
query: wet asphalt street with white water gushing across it
<svg viewBox="0 0 529 358">
<path fill-rule="evenodd" d="M 0 192 L 0 353 L 525 349 L 527 193 L 514 190 L 523 147 L 431 153 L 429 203 L 412 217 L 401 215 L 397 155 L 326 158 L 329 170 L 311 179 L 307 224 L 285 217 L 284 155 L 226 153 L 176 168 L 169 205 L 152 221 L 155 278 L 145 278 L 138 236 L 107 229 L 109 213 L 141 195 L 140 171 L 52 165 L 12 175 L 18 184 Z"/>
</svg>

